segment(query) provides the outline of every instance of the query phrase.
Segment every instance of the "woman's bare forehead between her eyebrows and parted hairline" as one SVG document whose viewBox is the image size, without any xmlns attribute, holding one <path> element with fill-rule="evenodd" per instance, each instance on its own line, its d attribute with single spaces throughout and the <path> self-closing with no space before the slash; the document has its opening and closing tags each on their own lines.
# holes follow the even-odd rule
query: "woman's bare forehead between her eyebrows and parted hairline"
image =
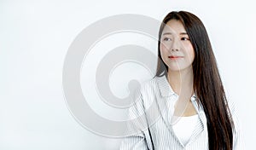
<svg viewBox="0 0 256 150">
<path fill-rule="evenodd" d="M 186 30 L 180 20 L 169 20 L 164 27 L 164 32 L 176 32 L 179 34 L 180 32 L 186 32 Z"/>
</svg>

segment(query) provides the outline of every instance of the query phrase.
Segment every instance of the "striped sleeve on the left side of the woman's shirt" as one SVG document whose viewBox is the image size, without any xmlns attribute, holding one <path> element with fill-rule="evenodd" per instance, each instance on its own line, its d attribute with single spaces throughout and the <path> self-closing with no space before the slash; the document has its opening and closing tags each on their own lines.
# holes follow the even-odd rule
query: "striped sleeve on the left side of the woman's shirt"
<svg viewBox="0 0 256 150">
<path fill-rule="evenodd" d="M 121 141 L 120 150 L 148 150 L 146 136 L 148 135 L 148 124 L 143 105 L 141 90 L 133 95 L 133 104 L 128 109 L 127 128 L 125 138 Z M 151 148 L 150 148 L 151 149 Z"/>
</svg>

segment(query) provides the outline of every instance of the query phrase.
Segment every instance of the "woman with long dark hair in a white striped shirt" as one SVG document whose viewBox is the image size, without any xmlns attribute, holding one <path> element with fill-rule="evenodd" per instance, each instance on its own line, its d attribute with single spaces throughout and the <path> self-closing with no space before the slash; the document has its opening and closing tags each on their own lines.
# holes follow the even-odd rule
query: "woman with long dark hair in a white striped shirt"
<svg viewBox="0 0 256 150">
<path fill-rule="evenodd" d="M 139 119 L 128 124 L 133 134 L 120 149 L 241 149 L 234 107 L 201 20 L 185 11 L 167 14 L 158 56 L 156 76 L 143 84 L 129 110 Z"/>
</svg>

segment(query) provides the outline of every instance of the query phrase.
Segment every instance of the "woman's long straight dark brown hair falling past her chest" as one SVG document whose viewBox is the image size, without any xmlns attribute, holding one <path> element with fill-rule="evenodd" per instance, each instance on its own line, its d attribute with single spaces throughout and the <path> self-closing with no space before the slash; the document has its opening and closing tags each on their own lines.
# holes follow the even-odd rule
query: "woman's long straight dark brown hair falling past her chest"
<svg viewBox="0 0 256 150">
<path fill-rule="evenodd" d="M 180 20 L 189 35 L 195 50 L 192 63 L 194 73 L 193 88 L 197 101 L 201 103 L 207 116 L 208 145 L 210 150 L 232 150 L 234 129 L 224 87 L 218 73 L 218 66 L 212 52 L 207 30 L 201 20 L 185 11 L 173 11 L 166 15 L 160 26 L 158 42 L 158 66 L 156 76 L 166 76 L 168 66 L 160 56 L 160 39 L 169 20 Z"/>
</svg>

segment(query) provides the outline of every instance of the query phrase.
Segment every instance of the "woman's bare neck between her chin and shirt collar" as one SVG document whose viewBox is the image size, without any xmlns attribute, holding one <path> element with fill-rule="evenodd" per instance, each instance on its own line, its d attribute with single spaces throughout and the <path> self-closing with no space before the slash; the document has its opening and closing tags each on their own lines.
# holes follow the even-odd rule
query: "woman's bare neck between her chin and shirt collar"
<svg viewBox="0 0 256 150">
<path fill-rule="evenodd" d="M 192 66 L 182 71 L 171 71 L 168 69 L 168 82 L 177 95 L 182 93 L 193 95 L 193 70 Z"/>
</svg>

